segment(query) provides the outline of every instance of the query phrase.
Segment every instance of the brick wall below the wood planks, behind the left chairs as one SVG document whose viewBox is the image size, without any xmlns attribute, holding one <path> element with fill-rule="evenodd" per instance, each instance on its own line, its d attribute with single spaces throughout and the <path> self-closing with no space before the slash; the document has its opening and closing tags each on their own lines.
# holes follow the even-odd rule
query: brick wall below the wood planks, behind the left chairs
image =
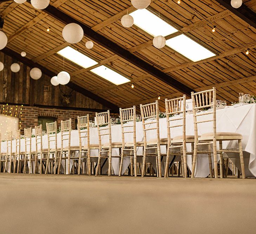
<svg viewBox="0 0 256 234">
<path fill-rule="evenodd" d="M 86 114 L 89 114 L 90 119 L 94 120 L 94 112 L 23 106 L 21 129 L 23 130 L 24 128 L 34 127 L 35 125 L 38 125 L 39 116 L 56 118 L 58 126 L 60 125 L 61 120 L 68 120 L 69 118 L 72 118 L 72 129 L 76 129 L 75 119 L 77 119 L 78 115 L 83 116 Z"/>
</svg>

